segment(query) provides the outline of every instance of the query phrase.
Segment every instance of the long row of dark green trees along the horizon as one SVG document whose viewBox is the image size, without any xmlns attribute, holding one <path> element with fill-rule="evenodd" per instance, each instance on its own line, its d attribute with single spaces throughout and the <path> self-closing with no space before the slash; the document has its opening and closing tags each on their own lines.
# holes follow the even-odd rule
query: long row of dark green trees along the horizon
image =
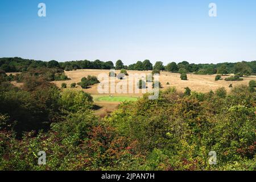
<svg viewBox="0 0 256 182">
<path fill-rule="evenodd" d="M 158 71 L 168 71 L 168 72 L 182 72 L 182 73 L 196 73 L 200 75 L 206 74 L 220 74 L 225 75 L 229 73 L 240 73 L 241 75 L 251 75 L 251 73 L 256 73 L 256 61 L 246 62 L 242 61 L 240 63 L 219 63 L 219 64 L 189 64 L 187 61 L 182 61 L 176 64 L 175 62 L 169 63 L 164 66 L 162 61 L 156 61 L 153 66 L 150 60 L 137 61 L 135 64 L 126 66 L 121 60 L 118 60 L 115 65 L 112 61 L 66 61 L 63 63 L 58 63 L 55 60 L 44 62 L 27 60 L 19 57 L 13 58 L 1 58 L 0 59 L 0 69 L 5 72 L 24 72 L 31 68 L 38 67 L 48 67 L 48 68 L 61 68 L 65 71 L 72 71 L 73 69 L 129 69 L 129 70 L 158 70 Z"/>
</svg>

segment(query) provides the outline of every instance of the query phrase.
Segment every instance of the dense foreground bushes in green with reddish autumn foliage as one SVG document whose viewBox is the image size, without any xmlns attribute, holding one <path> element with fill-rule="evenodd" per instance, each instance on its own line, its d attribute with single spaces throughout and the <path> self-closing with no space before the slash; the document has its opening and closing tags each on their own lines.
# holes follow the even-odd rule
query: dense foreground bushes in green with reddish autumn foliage
<svg viewBox="0 0 256 182">
<path fill-rule="evenodd" d="M 157 100 L 144 94 L 100 119 L 85 92 L 3 82 L 0 169 L 255 171 L 256 93 L 244 85 L 229 94 L 185 91 L 171 87 Z M 38 165 L 39 151 L 46 165 Z M 210 151 L 217 165 L 209 164 Z"/>
</svg>

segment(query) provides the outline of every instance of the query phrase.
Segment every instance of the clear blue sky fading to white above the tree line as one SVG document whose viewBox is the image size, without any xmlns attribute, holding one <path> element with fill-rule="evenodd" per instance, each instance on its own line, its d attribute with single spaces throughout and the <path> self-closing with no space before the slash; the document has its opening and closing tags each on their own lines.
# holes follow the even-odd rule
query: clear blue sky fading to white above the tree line
<svg viewBox="0 0 256 182">
<path fill-rule="evenodd" d="M 46 3 L 47 16 L 38 16 Z M 209 3 L 217 17 L 208 16 Z M 0 57 L 36 60 L 256 60 L 256 1 L 0 0 Z"/>
</svg>

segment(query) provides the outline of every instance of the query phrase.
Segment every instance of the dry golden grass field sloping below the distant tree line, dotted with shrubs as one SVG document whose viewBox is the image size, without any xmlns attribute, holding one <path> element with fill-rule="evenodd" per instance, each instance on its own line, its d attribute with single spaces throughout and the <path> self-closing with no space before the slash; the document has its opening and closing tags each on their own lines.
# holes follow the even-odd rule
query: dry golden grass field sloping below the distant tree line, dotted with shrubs
<svg viewBox="0 0 256 182">
<path fill-rule="evenodd" d="M 67 81 L 53 81 L 57 86 L 61 87 L 61 83 L 65 82 L 67 83 L 67 87 L 69 88 L 70 85 L 73 82 L 80 82 L 82 77 L 86 77 L 88 75 L 91 76 L 98 76 L 101 73 L 106 73 L 109 75 L 109 70 L 94 70 L 94 69 L 79 69 L 77 71 L 68 71 L 65 72 L 65 74 L 71 78 L 71 80 Z M 119 71 L 115 71 L 115 73 L 119 73 Z M 151 71 L 127 71 L 128 74 L 131 75 L 131 73 L 151 73 Z M 250 80 L 256 80 L 256 76 L 250 76 L 250 77 L 243 77 L 243 81 L 225 81 L 224 78 L 229 76 L 222 76 L 222 80 L 215 81 L 214 78 L 216 75 L 193 75 L 188 74 L 188 80 L 184 81 L 180 79 L 179 73 L 170 73 L 170 72 L 161 72 L 159 76 L 159 81 L 162 84 L 162 89 L 166 89 L 168 86 L 175 86 L 177 90 L 184 91 L 185 87 L 189 87 L 192 91 L 197 92 L 209 92 L 210 90 L 216 90 L 220 87 L 224 87 L 228 92 L 232 88 L 229 88 L 229 85 L 232 84 L 233 86 L 245 84 L 248 85 Z M 127 79 L 127 80 L 126 80 Z M 115 80 L 115 84 L 118 82 L 123 81 L 129 81 L 128 78 L 125 78 L 124 80 Z M 104 81 L 102 81 L 104 82 Z M 170 83 L 170 85 L 167 85 L 167 82 Z M 88 89 L 82 89 L 80 86 L 77 86 L 76 89 L 78 90 L 84 90 L 87 93 L 92 94 L 94 100 L 98 97 L 102 96 L 130 96 L 130 97 L 142 97 L 143 93 L 142 90 L 140 93 L 112 93 L 112 94 L 100 94 L 98 93 L 98 84 L 91 86 Z M 106 102 L 106 101 L 95 101 L 95 104 L 97 106 L 100 106 L 101 108 L 96 110 L 96 114 L 98 115 L 104 115 L 110 111 L 113 111 L 118 105 L 119 102 Z"/>
</svg>

